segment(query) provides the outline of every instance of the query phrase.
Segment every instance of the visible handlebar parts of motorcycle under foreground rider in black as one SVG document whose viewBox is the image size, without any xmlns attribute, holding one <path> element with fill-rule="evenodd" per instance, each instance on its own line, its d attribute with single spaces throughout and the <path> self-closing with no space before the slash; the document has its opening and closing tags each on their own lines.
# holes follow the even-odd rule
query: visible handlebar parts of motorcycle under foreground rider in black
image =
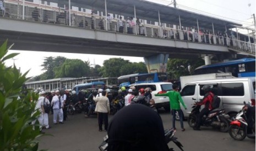
<svg viewBox="0 0 256 151">
<path fill-rule="evenodd" d="M 165 130 L 165 142 L 166 143 L 169 143 L 169 142 L 173 142 L 173 143 L 175 143 L 176 144 L 176 146 L 178 146 L 178 148 L 179 149 L 181 149 L 182 151 L 183 151 L 183 149 L 182 149 L 182 144 L 181 144 L 181 142 L 179 142 L 178 140 L 177 140 L 177 137 L 174 137 L 174 135 L 175 135 L 175 132 L 176 132 L 176 130 L 175 129 L 166 129 Z M 100 146 L 99 146 L 99 149 L 101 150 L 101 151 L 103 151 L 103 150 L 107 150 L 107 146 L 108 146 L 108 144 L 107 144 L 107 141 L 108 141 L 108 136 L 106 135 L 104 138 L 103 138 L 103 142 L 100 144 Z M 173 148 L 170 148 L 170 151 L 172 151 L 173 150 Z"/>
</svg>

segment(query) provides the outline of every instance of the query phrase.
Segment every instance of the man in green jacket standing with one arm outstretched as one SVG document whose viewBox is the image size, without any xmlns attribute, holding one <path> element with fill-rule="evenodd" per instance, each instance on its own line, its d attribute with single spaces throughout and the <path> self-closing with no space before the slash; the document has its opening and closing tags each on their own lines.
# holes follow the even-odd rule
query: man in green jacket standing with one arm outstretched
<svg viewBox="0 0 256 151">
<path fill-rule="evenodd" d="M 178 91 L 178 85 L 173 84 L 172 85 L 172 91 L 169 91 L 165 94 L 156 94 L 155 96 L 168 96 L 169 100 L 170 100 L 170 107 L 172 110 L 172 127 L 174 129 L 176 129 L 175 127 L 175 117 L 176 117 L 176 112 L 178 112 L 179 114 L 179 121 L 181 121 L 181 129 L 182 131 L 185 131 L 184 126 L 183 126 L 183 115 L 182 115 L 182 111 L 181 111 L 181 106 L 179 105 L 179 103 L 182 104 L 182 106 L 187 110 L 187 106 L 186 104 L 184 104 L 182 98 L 181 98 L 181 94 L 179 94 Z"/>
</svg>

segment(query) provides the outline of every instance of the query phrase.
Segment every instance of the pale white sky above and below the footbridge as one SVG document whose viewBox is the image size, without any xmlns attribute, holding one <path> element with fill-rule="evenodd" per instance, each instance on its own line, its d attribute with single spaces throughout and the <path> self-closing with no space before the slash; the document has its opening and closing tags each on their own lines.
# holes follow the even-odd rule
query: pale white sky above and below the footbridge
<svg viewBox="0 0 256 151">
<path fill-rule="evenodd" d="M 147 0 L 150 2 L 160 3 L 164 5 L 171 4 L 171 0 Z M 243 24 L 244 26 L 252 25 L 253 22 L 247 20 L 252 18 L 252 14 L 255 14 L 255 0 L 176 0 L 177 8 L 193 11 L 195 13 L 213 16 L 232 22 Z M 173 7 L 173 5 L 170 5 Z M 25 73 L 30 70 L 28 76 L 34 77 L 40 75 L 42 71 L 42 62 L 45 57 L 49 56 L 49 53 L 40 51 L 21 51 L 21 50 L 9 50 L 9 53 L 20 53 L 15 56 L 14 59 L 10 59 L 6 62 L 7 66 L 15 65 L 20 68 L 21 73 Z M 32 57 L 28 57 L 32 56 Z M 124 60 L 130 62 L 144 62 L 143 57 L 127 57 L 127 56 L 109 56 L 109 55 L 90 55 L 90 54 L 70 54 L 70 53 L 51 53 L 51 56 L 63 56 L 68 59 L 81 59 L 83 61 L 90 61 L 91 64 L 103 65 L 104 60 L 108 60 L 113 57 L 121 57 Z M 29 59 L 28 59 L 29 58 Z"/>
</svg>

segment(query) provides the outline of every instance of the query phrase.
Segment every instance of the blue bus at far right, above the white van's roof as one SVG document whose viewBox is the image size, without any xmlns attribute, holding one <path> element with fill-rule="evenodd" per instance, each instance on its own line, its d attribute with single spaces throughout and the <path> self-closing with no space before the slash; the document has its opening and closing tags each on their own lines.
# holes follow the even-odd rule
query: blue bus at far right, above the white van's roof
<svg viewBox="0 0 256 151">
<path fill-rule="evenodd" d="M 255 59 L 231 60 L 195 69 L 195 74 L 207 73 L 232 73 L 234 77 L 255 77 Z"/>
</svg>

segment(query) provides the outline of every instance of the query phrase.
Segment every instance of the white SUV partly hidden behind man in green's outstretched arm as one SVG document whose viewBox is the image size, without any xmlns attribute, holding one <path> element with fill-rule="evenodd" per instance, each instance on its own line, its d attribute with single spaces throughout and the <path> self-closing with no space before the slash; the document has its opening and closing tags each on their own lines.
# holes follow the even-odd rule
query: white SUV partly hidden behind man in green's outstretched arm
<svg viewBox="0 0 256 151">
<path fill-rule="evenodd" d="M 141 88 L 151 88 L 152 99 L 155 100 L 155 108 L 159 109 L 164 107 L 166 111 L 170 111 L 170 101 L 166 96 L 155 96 L 160 91 L 170 91 L 172 90 L 172 83 L 169 82 L 157 82 L 157 83 L 138 83 L 132 84 L 130 86 L 135 86 L 136 90 Z"/>
</svg>

